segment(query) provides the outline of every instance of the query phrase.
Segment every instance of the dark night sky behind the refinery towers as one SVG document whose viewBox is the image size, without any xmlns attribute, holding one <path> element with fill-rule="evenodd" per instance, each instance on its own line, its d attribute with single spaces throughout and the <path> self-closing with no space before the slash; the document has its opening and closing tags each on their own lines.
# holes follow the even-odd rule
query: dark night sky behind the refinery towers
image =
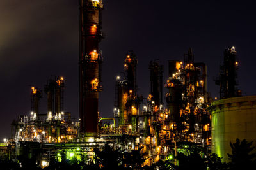
<svg viewBox="0 0 256 170">
<path fill-rule="evenodd" d="M 30 112 L 30 87 L 43 89 L 51 75 L 66 80 L 65 111 L 78 117 L 79 0 L 0 1 L 0 140 L 10 137 L 10 124 Z M 218 75 L 223 50 L 236 46 L 239 88 L 256 94 L 254 1 L 146 1 L 105 0 L 102 15 L 106 39 L 99 111 L 113 115 L 115 76 L 123 70 L 124 57 L 134 50 L 138 57 L 140 94 L 148 95 L 150 60 L 183 59 L 189 47 L 195 62 L 205 62 L 208 89 L 218 96 L 213 77 Z M 40 106 L 47 110 L 45 94 Z"/>
</svg>

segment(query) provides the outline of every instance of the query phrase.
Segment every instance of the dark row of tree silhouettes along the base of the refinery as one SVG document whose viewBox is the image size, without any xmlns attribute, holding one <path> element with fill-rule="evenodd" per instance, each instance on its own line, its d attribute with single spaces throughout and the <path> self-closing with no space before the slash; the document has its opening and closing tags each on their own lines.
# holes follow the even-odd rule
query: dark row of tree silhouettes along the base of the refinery
<svg viewBox="0 0 256 170">
<path fill-rule="evenodd" d="M 106 145 L 104 150 L 95 150 L 95 159 L 88 159 L 85 155 L 77 160 L 76 157 L 66 159 L 64 153 L 61 154 L 61 162 L 57 162 L 55 157 L 49 161 L 49 166 L 45 170 L 58 169 L 202 169 L 202 170 L 236 170 L 250 169 L 256 166 L 256 153 L 250 153 L 254 149 L 252 142 L 247 142 L 245 139 L 240 141 L 236 139 L 235 143 L 230 143 L 232 153 L 228 154 L 230 163 L 221 162 L 221 158 L 212 153 L 211 155 L 202 156 L 202 153 L 194 148 L 190 154 L 178 153 L 177 157 L 169 155 L 166 160 L 160 159 L 152 166 L 141 166 L 145 159 L 140 153 L 140 150 L 132 150 L 125 152 L 123 150 L 114 150 L 110 145 Z M 24 159 L 19 157 L 18 162 L 0 159 L 0 169 L 16 170 L 16 169 L 41 169 L 40 164 L 36 164 L 35 159 Z"/>
</svg>

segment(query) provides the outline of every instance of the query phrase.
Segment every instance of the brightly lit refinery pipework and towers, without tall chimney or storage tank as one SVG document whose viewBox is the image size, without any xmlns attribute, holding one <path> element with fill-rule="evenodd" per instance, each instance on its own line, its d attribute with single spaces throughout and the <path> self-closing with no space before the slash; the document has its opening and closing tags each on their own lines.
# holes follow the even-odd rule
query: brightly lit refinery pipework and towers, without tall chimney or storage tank
<svg viewBox="0 0 256 170">
<path fill-rule="evenodd" d="M 39 113 L 42 90 L 31 87 L 30 115 L 20 115 L 12 123 L 13 138 L 9 143 L 15 146 L 15 155 L 10 157 L 36 157 L 38 163 L 44 162 L 47 166 L 45 162 L 51 157 L 61 161 L 64 153 L 67 159 L 79 160 L 84 155 L 90 162 L 95 156 L 93 149 L 103 148 L 107 141 L 126 152 L 140 149 L 144 165 L 170 155 L 174 157 L 179 152 L 189 153 L 195 146 L 201 148 L 202 153 L 210 152 L 211 120 L 205 108 L 211 99 L 206 92 L 205 64 L 195 63 L 189 49 L 184 61 L 168 62 L 170 76 L 163 85 L 163 65 L 159 60 L 150 62 L 148 97 L 138 95 L 137 66 L 135 53 L 129 51 L 124 57 L 124 76 L 116 76 L 114 117 L 102 118 L 97 114 L 93 124 L 96 134 L 92 131 L 86 134 L 86 130 L 81 129 L 82 119 L 86 122 L 87 117 L 81 116 L 76 122 L 70 113 L 63 111 L 63 77 L 52 76 L 44 87 L 46 114 Z M 168 89 L 164 97 L 163 86 Z"/>
</svg>

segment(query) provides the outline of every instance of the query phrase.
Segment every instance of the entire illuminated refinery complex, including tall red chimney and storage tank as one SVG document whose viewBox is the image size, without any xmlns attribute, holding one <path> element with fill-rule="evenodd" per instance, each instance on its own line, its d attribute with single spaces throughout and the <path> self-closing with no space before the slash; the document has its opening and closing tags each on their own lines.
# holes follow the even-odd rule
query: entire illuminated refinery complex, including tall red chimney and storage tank
<svg viewBox="0 0 256 170">
<path fill-rule="evenodd" d="M 104 58 L 99 43 L 104 39 L 103 4 L 101 0 L 80 0 L 79 10 L 79 120 L 72 119 L 71 113 L 64 110 L 68 81 L 62 76 L 51 76 L 44 89 L 31 87 L 31 110 L 12 122 L 12 138 L 5 139 L 7 149 L 1 153 L 2 157 L 33 157 L 46 167 L 50 159 L 61 161 L 64 154 L 67 159 L 86 157 L 90 164 L 95 148 L 102 150 L 108 143 L 125 152 L 140 150 L 145 159 L 142 166 L 150 166 L 159 160 L 173 159 L 178 153 L 189 154 L 195 147 L 200 148 L 202 155 L 215 152 L 225 157 L 225 147 L 233 137 L 241 134 L 241 138 L 247 138 L 247 134 L 239 132 L 237 136 L 233 127 L 230 130 L 227 127 L 233 121 L 228 118 L 230 114 L 237 115 L 233 122 L 241 120 L 241 113 L 231 113 L 234 112 L 231 108 L 250 109 L 248 114 L 255 117 L 251 113 L 255 110 L 255 96 L 241 97 L 241 90 L 236 87 L 238 62 L 234 47 L 225 50 L 224 64 L 215 80 L 220 85 L 221 100 L 212 99 L 207 92 L 207 66 L 195 62 L 191 48 L 182 60 L 168 60 L 164 64 L 152 60 L 148 65 L 150 93 L 142 96 L 137 83 L 140 62 L 136 52 L 128 51 L 124 70 L 116 74 L 113 82 L 115 101 L 108 101 L 113 104 L 113 117 L 101 117 L 98 108 Z M 163 77 L 164 66 L 168 66 L 168 77 Z M 40 113 L 43 94 L 47 96 L 47 111 Z M 221 111 L 230 114 L 220 115 Z M 250 128 L 244 130 L 250 131 L 248 136 L 255 132 L 255 125 L 251 122 Z M 233 133 L 233 137 L 225 136 L 224 131 Z M 175 161 L 173 164 L 177 164 Z"/>
</svg>

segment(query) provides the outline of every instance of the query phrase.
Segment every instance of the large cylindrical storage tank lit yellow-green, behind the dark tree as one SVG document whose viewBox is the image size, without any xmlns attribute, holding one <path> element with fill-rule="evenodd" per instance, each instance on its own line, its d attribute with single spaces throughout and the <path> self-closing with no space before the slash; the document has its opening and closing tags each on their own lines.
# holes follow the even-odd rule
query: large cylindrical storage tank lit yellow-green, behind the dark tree
<svg viewBox="0 0 256 170">
<path fill-rule="evenodd" d="M 214 101 L 209 108 L 212 124 L 212 153 L 228 162 L 230 142 L 253 141 L 256 146 L 256 96 L 232 97 Z M 256 152 L 256 149 L 253 150 Z"/>
</svg>

